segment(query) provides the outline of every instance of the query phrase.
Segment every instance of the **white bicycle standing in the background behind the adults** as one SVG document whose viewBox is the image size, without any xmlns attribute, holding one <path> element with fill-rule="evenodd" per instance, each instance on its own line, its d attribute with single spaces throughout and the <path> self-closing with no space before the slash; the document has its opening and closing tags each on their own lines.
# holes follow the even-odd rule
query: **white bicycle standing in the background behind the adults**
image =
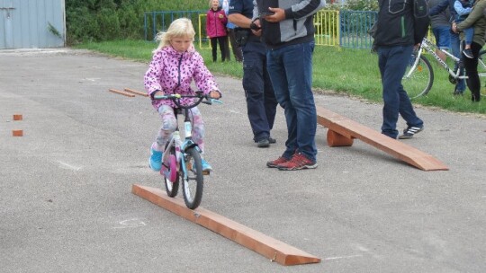
<svg viewBox="0 0 486 273">
<path fill-rule="evenodd" d="M 435 57 L 437 63 L 446 69 L 451 84 L 457 84 L 457 81 L 460 79 L 467 79 L 467 75 L 461 75 L 461 71 L 464 71 L 462 69 L 464 68 L 462 59 L 455 57 L 445 49 L 437 48 L 432 41 L 424 38 L 420 44 L 420 48 L 412 54 L 410 64 L 407 66 L 407 70 L 401 81 L 403 89 L 407 91 L 410 99 L 427 95 L 434 84 L 434 70 L 428 58 L 423 55 L 424 50 Z M 451 69 L 447 66 L 446 62 L 437 56 L 436 50 L 444 52 L 447 57 L 454 60 L 455 67 L 457 68 Z M 486 50 L 482 50 L 478 57 L 478 75 L 480 77 L 486 76 L 486 63 L 483 58 L 486 58 Z M 486 94 L 482 91 L 482 96 L 484 95 Z"/>
</svg>

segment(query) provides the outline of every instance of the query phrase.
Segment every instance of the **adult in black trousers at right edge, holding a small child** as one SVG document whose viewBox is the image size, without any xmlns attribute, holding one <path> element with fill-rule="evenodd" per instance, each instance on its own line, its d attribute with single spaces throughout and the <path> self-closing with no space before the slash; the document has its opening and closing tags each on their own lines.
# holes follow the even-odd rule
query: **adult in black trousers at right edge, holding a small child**
<svg viewBox="0 0 486 273">
<path fill-rule="evenodd" d="M 467 75 L 467 87 L 471 90 L 471 100 L 481 101 L 481 82 L 478 75 L 478 57 L 479 52 L 484 46 L 484 35 L 486 34 L 486 18 L 483 11 L 486 8 L 486 0 L 477 0 L 473 5 L 473 10 L 467 18 L 458 24 L 453 23 L 452 29 L 455 33 L 464 31 L 469 27 L 474 28 L 473 43 L 471 51 L 473 58 L 464 57 L 464 68 Z"/>
</svg>

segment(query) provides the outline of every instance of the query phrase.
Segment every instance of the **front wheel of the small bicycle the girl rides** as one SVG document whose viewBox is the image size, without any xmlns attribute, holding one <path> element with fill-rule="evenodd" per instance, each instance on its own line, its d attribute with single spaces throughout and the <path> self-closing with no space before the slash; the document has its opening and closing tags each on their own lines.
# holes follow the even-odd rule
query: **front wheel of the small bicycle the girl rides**
<svg viewBox="0 0 486 273">
<path fill-rule="evenodd" d="M 195 148 L 189 148 L 185 151 L 184 163 L 186 173 L 183 177 L 183 193 L 185 206 L 190 209 L 199 207 L 202 200 L 203 176 L 201 154 Z M 180 168 L 182 170 L 182 166 Z"/>
</svg>

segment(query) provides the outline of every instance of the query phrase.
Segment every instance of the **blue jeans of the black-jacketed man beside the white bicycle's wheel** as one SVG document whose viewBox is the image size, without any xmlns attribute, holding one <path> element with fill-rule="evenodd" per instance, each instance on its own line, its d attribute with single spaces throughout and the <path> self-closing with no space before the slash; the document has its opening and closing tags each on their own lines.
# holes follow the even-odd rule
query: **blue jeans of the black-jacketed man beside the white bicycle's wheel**
<svg viewBox="0 0 486 273">
<path fill-rule="evenodd" d="M 409 95 L 403 90 L 401 78 L 405 74 L 413 46 L 393 46 L 378 48 L 378 66 L 383 84 L 383 125 L 382 134 L 397 138 L 399 114 L 407 126 L 422 127 L 424 122 L 417 117 Z"/>
</svg>

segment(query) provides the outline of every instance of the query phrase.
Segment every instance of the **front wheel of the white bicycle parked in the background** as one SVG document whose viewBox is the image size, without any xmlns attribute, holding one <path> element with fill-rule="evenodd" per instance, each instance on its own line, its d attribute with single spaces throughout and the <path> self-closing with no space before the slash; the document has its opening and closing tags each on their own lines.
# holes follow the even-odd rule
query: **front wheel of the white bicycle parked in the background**
<svg viewBox="0 0 486 273">
<path fill-rule="evenodd" d="M 415 65 L 415 58 L 412 56 L 401 79 L 403 89 L 409 94 L 410 99 L 426 95 L 434 83 L 434 71 L 430 62 L 423 55 L 420 55 L 419 62 Z"/>
</svg>

